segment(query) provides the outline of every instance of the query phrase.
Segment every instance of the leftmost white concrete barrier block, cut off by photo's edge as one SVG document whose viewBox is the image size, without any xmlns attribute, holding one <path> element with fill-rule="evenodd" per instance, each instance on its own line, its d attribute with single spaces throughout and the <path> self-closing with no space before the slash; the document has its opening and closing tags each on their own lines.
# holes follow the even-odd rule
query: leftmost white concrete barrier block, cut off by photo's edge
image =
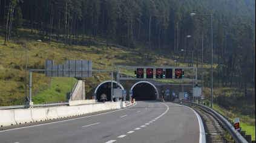
<svg viewBox="0 0 256 143">
<path fill-rule="evenodd" d="M 14 110 L 0 110 L 0 127 L 16 125 Z"/>
</svg>

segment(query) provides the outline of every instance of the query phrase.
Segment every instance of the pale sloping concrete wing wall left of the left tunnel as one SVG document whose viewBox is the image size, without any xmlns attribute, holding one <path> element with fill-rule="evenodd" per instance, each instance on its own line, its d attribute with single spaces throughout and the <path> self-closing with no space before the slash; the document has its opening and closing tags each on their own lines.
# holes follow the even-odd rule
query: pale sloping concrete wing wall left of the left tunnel
<svg viewBox="0 0 256 143">
<path fill-rule="evenodd" d="M 85 81 L 83 80 L 77 81 L 69 101 L 71 100 L 72 101 L 85 100 Z"/>
</svg>

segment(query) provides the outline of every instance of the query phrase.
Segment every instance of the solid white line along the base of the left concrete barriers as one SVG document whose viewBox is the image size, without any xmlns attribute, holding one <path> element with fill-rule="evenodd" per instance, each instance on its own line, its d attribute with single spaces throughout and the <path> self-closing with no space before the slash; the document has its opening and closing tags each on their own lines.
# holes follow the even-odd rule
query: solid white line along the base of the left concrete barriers
<svg viewBox="0 0 256 143">
<path fill-rule="evenodd" d="M 135 102 L 134 106 L 136 106 L 137 102 Z M 125 109 L 120 109 L 120 110 L 126 110 L 126 109 L 130 109 L 131 107 L 128 107 L 128 108 L 125 108 Z M 120 110 L 115 110 L 115 111 L 111 111 L 111 112 L 107 112 L 107 113 L 113 113 L 113 112 L 117 112 L 117 111 L 120 111 Z M 91 116 L 99 116 L 99 115 L 104 115 L 104 114 L 107 114 L 107 113 L 100 113 L 100 114 L 97 114 L 97 115 L 91 115 Z M 84 118 L 88 118 L 88 117 L 91 117 L 91 116 L 84 116 L 84 117 L 80 117 L 80 118 L 76 118 L 76 119 L 84 119 Z M 73 121 L 73 120 L 76 120 L 76 119 L 67 119 L 67 120 L 64 120 L 64 121 L 57 121 L 57 122 L 67 122 L 67 121 Z M 38 126 L 44 126 L 44 125 L 48 125 L 48 124 L 55 124 L 57 122 L 50 122 L 50 123 L 47 123 L 47 124 L 41 124 L 41 125 L 35 125 L 35 126 L 28 126 L 28 127 L 21 127 L 21 128 L 16 128 L 16 129 L 10 129 L 10 130 L 18 130 L 18 129 L 25 129 L 25 128 L 29 128 L 29 127 L 38 127 Z M 7 131 L 10 131 L 10 130 L 2 130 L 0 132 L 7 132 Z"/>
</svg>

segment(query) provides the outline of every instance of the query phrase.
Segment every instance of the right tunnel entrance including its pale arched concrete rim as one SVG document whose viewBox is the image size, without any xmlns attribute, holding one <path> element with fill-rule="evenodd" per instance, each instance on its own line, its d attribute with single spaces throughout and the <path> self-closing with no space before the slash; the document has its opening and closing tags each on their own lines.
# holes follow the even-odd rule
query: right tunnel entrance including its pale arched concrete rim
<svg viewBox="0 0 256 143">
<path fill-rule="evenodd" d="M 144 83 L 144 85 L 143 85 Z M 143 85 L 143 86 L 142 86 Z M 134 87 L 143 89 L 134 89 Z M 140 81 L 131 87 L 131 90 L 133 90 L 133 98 L 135 98 L 137 101 L 147 101 L 147 100 L 156 100 L 159 99 L 159 92 L 157 90 L 157 87 L 154 86 L 154 84 L 149 83 L 148 81 Z M 136 93 L 139 92 L 139 93 Z M 143 95 L 139 95 L 140 92 L 142 92 Z M 148 96 L 148 97 L 147 97 Z"/>
</svg>

